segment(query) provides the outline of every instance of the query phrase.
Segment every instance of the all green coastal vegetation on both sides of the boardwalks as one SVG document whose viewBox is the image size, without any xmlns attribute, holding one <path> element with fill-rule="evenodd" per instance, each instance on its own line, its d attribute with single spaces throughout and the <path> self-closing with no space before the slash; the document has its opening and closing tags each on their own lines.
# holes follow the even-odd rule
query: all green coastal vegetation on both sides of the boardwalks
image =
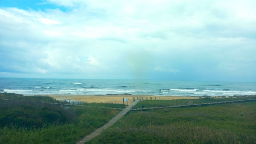
<svg viewBox="0 0 256 144">
<path fill-rule="evenodd" d="M 186 98 L 186 97 L 184 97 Z M 135 108 L 253 99 L 252 96 L 194 100 L 143 100 Z M 60 101 L 58 101 L 60 103 Z M 65 104 L 65 105 L 64 105 Z M 67 104 L 67 105 L 66 105 Z M 69 102 L 47 96 L 0 93 L 0 143 L 75 143 L 119 110 L 113 104 Z M 118 104 L 122 108 L 122 104 Z M 130 111 L 87 143 L 256 143 L 256 101 L 201 107 Z"/>
</svg>

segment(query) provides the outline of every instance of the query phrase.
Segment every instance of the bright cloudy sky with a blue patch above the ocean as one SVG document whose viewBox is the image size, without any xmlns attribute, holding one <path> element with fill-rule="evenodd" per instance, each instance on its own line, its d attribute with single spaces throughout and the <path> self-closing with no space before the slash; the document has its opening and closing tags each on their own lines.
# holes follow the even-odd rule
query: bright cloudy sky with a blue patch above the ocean
<svg viewBox="0 0 256 144">
<path fill-rule="evenodd" d="M 255 0 L 1 0 L 0 77 L 256 82 Z"/>
</svg>

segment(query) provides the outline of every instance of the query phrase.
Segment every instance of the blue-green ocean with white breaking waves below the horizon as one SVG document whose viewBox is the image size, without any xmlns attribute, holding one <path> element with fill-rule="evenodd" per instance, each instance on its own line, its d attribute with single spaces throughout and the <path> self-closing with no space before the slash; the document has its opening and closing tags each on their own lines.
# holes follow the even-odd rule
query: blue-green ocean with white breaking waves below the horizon
<svg viewBox="0 0 256 144">
<path fill-rule="evenodd" d="M 256 83 L 132 79 L 0 78 L 0 93 L 23 95 L 234 96 L 256 95 Z"/>
</svg>

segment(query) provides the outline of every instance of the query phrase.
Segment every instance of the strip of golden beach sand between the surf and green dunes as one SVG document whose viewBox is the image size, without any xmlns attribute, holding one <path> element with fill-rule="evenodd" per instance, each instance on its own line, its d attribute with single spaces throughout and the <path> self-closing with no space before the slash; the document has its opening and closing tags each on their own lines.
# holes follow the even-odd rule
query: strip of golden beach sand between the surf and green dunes
<svg viewBox="0 0 256 144">
<path fill-rule="evenodd" d="M 123 98 L 128 98 L 130 105 L 133 101 L 133 97 L 137 99 L 137 97 L 143 97 L 143 100 L 158 100 L 159 97 L 161 100 L 175 100 L 175 99 L 198 99 L 199 97 L 182 97 L 182 96 L 152 96 L 152 95 L 101 95 L 101 96 L 92 96 L 92 95 L 48 95 L 54 99 L 62 99 L 62 100 L 77 100 L 82 102 L 98 102 L 98 103 L 116 103 L 116 104 L 123 104 Z M 124 102 L 127 104 L 127 102 Z"/>
</svg>

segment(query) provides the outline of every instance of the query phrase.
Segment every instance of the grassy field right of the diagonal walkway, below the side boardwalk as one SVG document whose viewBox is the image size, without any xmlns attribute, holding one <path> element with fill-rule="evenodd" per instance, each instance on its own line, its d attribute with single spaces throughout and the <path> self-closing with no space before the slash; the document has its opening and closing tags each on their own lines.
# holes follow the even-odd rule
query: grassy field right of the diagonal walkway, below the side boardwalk
<svg viewBox="0 0 256 144">
<path fill-rule="evenodd" d="M 87 143 L 255 144 L 255 121 L 255 101 L 130 111 Z"/>
</svg>

